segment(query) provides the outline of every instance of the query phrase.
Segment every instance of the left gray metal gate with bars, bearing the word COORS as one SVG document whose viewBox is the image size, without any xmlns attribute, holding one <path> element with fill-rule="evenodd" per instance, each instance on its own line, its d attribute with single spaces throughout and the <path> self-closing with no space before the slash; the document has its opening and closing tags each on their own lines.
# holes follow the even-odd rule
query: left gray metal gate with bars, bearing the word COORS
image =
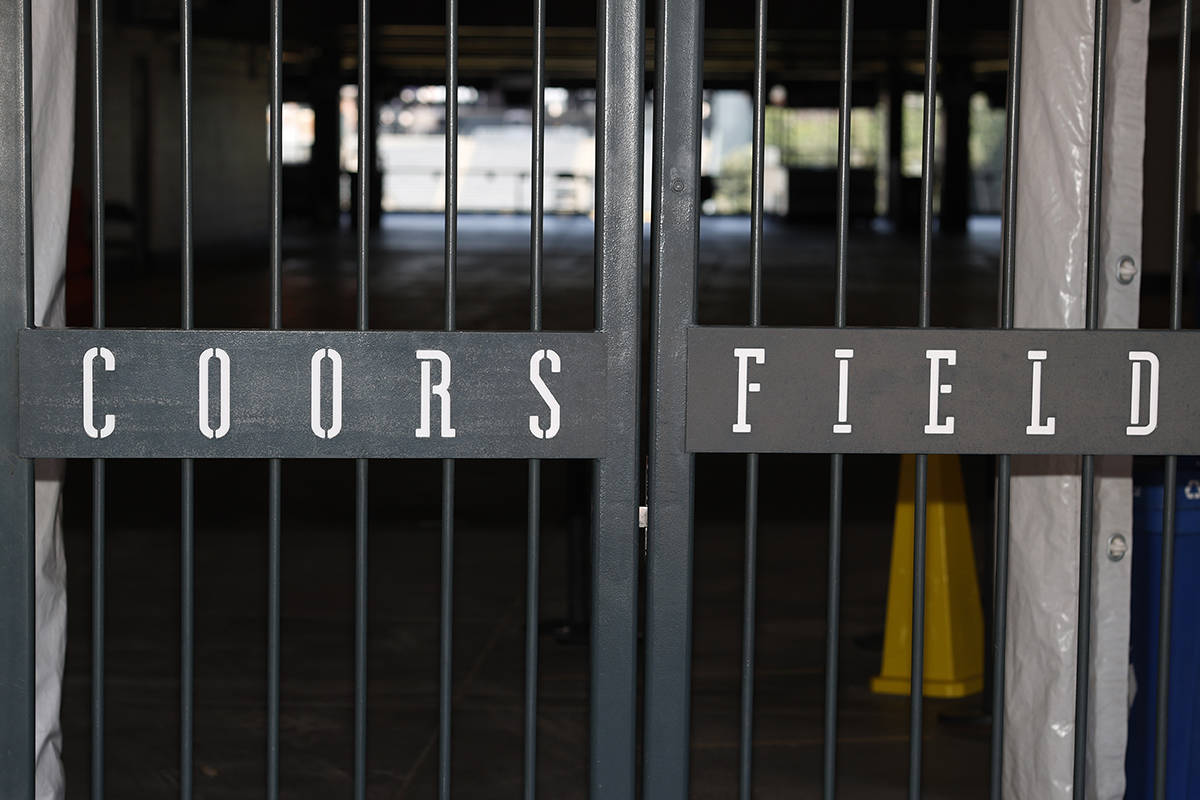
<svg viewBox="0 0 1200 800">
<path fill-rule="evenodd" d="M 271 330 L 193 330 L 192 4 L 181 5 L 182 330 L 103 326 L 103 175 L 95 161 L 95 320 L 90 330 L 30 330 L 32 224 L 30 14 L 28 0 L 0 8 L 0 327 L 4 458 L 0 522 L 0 796 L 34 796 L 34 462 L 95 458 L 92 793 L 103 793 L 104 458 L 180 458 L 182 517 L 180 795 L 193 782 L 193 461 L 270 458 L 268 793 L 277 796 L 280 747 L 280 459 L 355 458 L 355 796 L 366 790 L 368 458 L 443 459 L 442 628 L 438 776 L 450 794 L 455 458 L 529 461 L 527 789 L 533 786 L 536 711 L 536 553 L 541 458 L 594 459 L 590 630 L 590 793 L 635 793 L 636 599 L 638 570 L 637 387 L 642 245 L 642 13 L 619 0 L 599 17 L 596 290 L 593 333 L 541 330 L 544 119 L 534 143 L 535 180 L 529 332 L 456 331 L 457 114 L 446 120 L 444 333 L 370 331 L 367 225 L 370 170 L 358 185 L 358 330 L 281 329 L 281 13 L 271 6 Z M 102 142 L 101 4 L 92 5 L 94 126 Z M 457 2 L 446 4 L 445 82 L 457 97 Z M 370 108 L 370 2 L 359 4 L 359 109 Z M 538 6 L 536 82 L 545 88 L 545 4 Z M 360 125 L 359 163 L 370 163 Z M 19 354 L 19 356 L 18 356 Z M 18 369 L 19 363 L 19 369 Z M 66 389 L 70 386 L 71 389 Z M 467 391 L 461 391 L 470 386 Z M 60 393 L 61 392 L 61 393 Z M 68 398 L 66 407 L 47 401 Z M 18 405 L 24 409 L 19 411 Z M 54 408 L 56 407 L 56 410 Z M 568 413 L 559 415 L 559 409 Z"/>
</svg>

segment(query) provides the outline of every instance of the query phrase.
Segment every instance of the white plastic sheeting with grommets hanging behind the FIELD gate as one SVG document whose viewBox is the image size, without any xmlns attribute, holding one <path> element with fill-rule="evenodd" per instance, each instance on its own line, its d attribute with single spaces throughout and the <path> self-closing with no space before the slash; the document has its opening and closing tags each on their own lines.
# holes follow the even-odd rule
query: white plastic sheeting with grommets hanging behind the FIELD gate
<svg viewBox="0 0 1200 800">
<path fill-rule="evenodd" d="M 1100 325 L 1136 327 L 1140 282 L 1122 285 L 1122 257 L 1141 260 L 1141 181 L 1150 0 L 1109 4 Z M 1082 327 L 1094 6 L 1026 0 L 1016 227 L 1018 327 Z M 1046 368 L 1052 368 L 1049 366 Z M 1067 409 L 1063 413 L 1069 413 Z M 1108 558 L 1132 541 L 1128 457 L 1097 459 L 1088 798 L 1124 795 L 1129 564 Z M 1013 459 L 1004 796 L 1069 798 L 1073 782 L 1080 462 Z"/>
</svg>

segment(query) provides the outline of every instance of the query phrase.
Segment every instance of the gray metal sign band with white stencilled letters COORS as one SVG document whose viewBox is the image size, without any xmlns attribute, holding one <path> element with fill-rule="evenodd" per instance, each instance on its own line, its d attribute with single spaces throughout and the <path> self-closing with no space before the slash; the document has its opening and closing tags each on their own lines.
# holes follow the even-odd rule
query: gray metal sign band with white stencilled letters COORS
<svg viewBox="0 0 1200 800">
<path fill-rule="evenodd" d="M 20 455 L 596 458 L 604 333 L 26 330 Z"/>
</svg>

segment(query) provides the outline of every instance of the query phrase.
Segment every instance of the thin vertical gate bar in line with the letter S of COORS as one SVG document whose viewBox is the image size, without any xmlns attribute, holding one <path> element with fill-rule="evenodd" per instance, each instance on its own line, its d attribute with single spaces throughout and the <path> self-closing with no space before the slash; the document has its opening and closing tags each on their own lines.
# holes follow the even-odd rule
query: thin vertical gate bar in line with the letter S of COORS
<svg viewBox="0 0 1200 800">
<path fill-rule="evenodd" d="M 546 0 L 534 0 L 533 154 L 529 196 L 529 327 L 541 330 L 542 212 L 546 185 Z M 524 798 L 538 796 L 538 582 L 541 553 L 541 462 L 529 459 L 526 543 Z"/>
</svg>

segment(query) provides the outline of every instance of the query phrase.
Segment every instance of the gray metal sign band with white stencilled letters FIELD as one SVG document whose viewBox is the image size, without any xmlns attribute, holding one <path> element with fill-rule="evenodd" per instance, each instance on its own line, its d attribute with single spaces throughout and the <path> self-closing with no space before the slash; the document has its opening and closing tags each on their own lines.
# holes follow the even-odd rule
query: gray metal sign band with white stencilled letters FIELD
<svg viewBox="0 0 1200 800">
<path fill-rule="evenodd" d="M 1200 332 L 692 327 L 692 452 L 1200 453 Z"/>
</svg>

